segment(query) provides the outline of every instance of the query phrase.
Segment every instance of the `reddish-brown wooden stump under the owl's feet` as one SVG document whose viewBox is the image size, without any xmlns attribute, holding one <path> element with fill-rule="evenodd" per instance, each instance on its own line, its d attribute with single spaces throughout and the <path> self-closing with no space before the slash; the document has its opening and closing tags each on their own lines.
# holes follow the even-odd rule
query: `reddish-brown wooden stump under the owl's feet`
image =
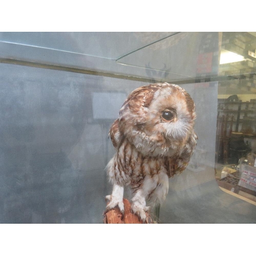
<svg viewBox="0 0 256 256">
<path fill-rule="evenodd" d="M 142 224 L 142 220 L 138 218 L 137 215 L 133 214 L 131 211 L 131 204 L 127 199 L 123 199 L 124 203 L 124 215 L 116 206 L 114 209 L 104 212 L 103 214 L 103 222 L 104 224 Z M 152 224 L 154 221 L 152 220 L 150 214 L 146 212 L 146 221 L 145 224 Z"/>
</svg>

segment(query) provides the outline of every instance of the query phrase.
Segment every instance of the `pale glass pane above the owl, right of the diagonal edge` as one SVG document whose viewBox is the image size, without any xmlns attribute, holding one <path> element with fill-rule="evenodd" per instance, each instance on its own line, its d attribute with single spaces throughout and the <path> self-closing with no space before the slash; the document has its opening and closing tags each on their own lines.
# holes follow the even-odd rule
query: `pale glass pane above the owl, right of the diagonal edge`
<svg viewBox="0 0 256 256">
<path fill-rule="evenodd" d="M 141 33 L 141 40 L 145 40 Z M 146 69 L 165 81 L 218 75 L 219 33 L 180 32 L 124 55 L 118 63 Z"/>
</svg>

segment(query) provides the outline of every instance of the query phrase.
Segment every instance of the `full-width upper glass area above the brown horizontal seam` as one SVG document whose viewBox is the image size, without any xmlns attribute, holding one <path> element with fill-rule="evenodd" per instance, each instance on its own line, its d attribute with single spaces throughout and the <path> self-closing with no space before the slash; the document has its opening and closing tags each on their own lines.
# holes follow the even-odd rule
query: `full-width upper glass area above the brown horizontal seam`
<svg viewBox="0 0 256 256">
<path fill-rule="evenodd" d="M 0 58 L 156 81 L 212 81 L 255 73 L 255 36 L 255 32 L 1 32 Z"/>
</svg>

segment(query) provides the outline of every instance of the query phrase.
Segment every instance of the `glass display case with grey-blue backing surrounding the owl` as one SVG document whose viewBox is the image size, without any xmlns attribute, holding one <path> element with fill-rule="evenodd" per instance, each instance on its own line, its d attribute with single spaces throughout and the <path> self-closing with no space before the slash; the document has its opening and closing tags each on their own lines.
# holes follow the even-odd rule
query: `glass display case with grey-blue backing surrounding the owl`
<svg viewBox="0 0 256 256">
<path fill-rule="evenodd" d="M 103 223 L 110 127 L 160 82 L 193 98 L 198 141 L 153 219 L 256 223 L 255 32 L 1 32 L 0 49 L 0 223 Z"/>
</svg>

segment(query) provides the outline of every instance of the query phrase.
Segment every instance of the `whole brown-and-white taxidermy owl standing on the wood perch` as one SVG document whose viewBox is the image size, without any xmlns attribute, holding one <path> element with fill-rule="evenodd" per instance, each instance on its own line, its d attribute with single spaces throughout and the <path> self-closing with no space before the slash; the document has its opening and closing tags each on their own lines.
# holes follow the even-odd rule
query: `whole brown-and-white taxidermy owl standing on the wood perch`
<svg viewBox="0 0 256 256">
<path fill-rule="evenodd" d="M 195 104 L 176 84 L 156 83 L 134 90 L 114 121 L 110 137 L 116 153 L 107 166 L 112 195 L 106 210 L 124 211 L 124 187 L 132 191 L 132 211 L 145 221 L 148 200 L 161 204 L 168 178 L 187 166 L 197 144 Z"/>
</svg>

